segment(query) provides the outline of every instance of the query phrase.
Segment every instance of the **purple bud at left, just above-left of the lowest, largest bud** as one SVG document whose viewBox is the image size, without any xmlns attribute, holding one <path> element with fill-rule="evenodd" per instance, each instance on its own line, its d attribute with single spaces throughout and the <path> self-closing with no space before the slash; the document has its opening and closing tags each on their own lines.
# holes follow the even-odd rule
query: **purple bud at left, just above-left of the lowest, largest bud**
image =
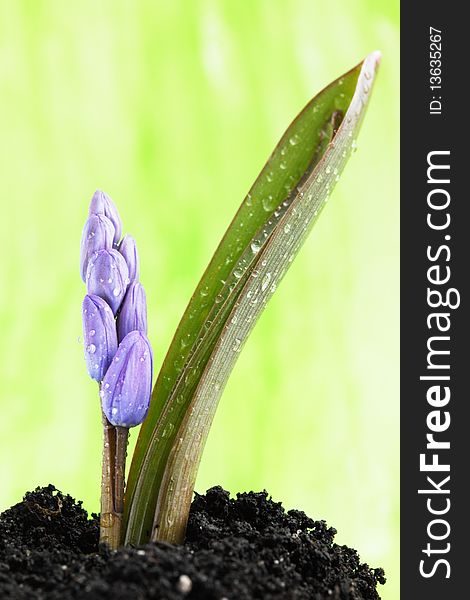
<svg viewBox="0 0 470 600">
<path fill-rule="evenodd" d="M 101 381 L 118 346 L 113 311 L 102 298 L 85 296 L 82 316 L 88 374 Z"/>
</svg>

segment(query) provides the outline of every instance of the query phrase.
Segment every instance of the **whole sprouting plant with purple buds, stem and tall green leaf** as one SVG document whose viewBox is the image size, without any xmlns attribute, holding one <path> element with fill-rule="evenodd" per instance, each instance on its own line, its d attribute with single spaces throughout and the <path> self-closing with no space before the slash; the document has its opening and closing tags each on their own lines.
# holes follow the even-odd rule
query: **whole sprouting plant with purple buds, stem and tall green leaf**
<svg viewBox="0 0 470 600">
<path fill-rule="evenodd" d="M 101 383 L 101 540 L 110 548 L 183 541 L 199 462 L 224 386 L 356 149 L 379 62 L 380 54 L 373 52 L 333 81 L 281 138 L 189 302 L 150 407 L 152 351 L 135 242 L 130 236 L 120 241 L 116 207 L 108 196 L 95 194 L 81 271 L 88 289 L 87 366 Z M 91 341 L 91 327 L 100 332 L 99 344 Z M 128 429 L 141 422 L 123 503 Z"/>
</svg>

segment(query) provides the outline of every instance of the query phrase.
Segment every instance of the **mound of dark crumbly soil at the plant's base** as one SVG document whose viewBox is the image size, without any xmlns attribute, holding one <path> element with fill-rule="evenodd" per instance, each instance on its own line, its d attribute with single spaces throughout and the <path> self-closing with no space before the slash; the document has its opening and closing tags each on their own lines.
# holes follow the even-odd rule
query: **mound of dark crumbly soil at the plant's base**
<svg viewBox="0 0 470 600">
<path fill-rule="evenodd" d="M 2 600 L 376 600 L 382 569 L 333 543 L 336 531 L 266 492 L 196 495 L 183 546 L 104 556 L 98 520 L 52 485 L 0 516 Z"/>
</svg>

